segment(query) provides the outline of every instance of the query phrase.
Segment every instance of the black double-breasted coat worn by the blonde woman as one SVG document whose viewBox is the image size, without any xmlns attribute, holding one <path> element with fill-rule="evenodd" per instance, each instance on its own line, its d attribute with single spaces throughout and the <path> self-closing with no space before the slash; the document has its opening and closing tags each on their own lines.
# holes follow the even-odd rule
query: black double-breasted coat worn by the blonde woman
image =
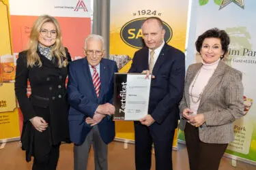
<svg viewBox="0 0 256 170">
<path fill-rule="evenodd" d="M 42 67 L 27 67 L 27 51 L 18 54 L 16 66 L 15 93 L 24 118 L 21 142 L 23 150 L 27 151 L 27 161 L 31 160 L 33 155 L 34 141 L 48 139 L 50 146 L 61 141 L 69 141 L 69 106 L 65 86 L 68 67 L 59 68 L 57 58 L 53 62 L 40 52 L 38 54 Z M 71 61 L 68 50 L 66 54 L 68 61 Z M 27 80 L 31 86 L 30 97 L 27 97 Z M 48 122 L 46 131 L 40 133 L 33 127 L 29 119 L 35 116 L 42 117 Z M 47 149 L 45 145 L 42 146 L 42 152 Z"/>
</svg>

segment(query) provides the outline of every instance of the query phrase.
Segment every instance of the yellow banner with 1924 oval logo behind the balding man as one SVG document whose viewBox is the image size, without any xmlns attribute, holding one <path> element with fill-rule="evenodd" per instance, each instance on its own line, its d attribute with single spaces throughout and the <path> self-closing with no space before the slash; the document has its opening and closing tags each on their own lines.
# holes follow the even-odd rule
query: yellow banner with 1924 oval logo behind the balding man
<svg viewBox="0 0 256 170">
<path fill-rule="evenodd" d="M 184 52 L 188 1 L 147 0 L 111 1 L 110 56 L 117 62 L 119 72 L 127 73 L 134 52 L 143 46 L 141 24 L 145 18 L 157 16 L 164 22 L 165 41 Z M 117 138 L 134 140 L 132 121 L 116 121 Z M 173 146 L 177 146 L 177 130 Z"/>
</svg>

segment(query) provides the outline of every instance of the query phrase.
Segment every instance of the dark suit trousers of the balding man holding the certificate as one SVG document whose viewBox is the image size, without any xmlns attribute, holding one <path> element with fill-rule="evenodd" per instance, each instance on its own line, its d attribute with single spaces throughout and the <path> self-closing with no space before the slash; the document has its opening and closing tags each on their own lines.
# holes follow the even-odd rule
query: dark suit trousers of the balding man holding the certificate
<svg viewBox="0 0 256 170">
<path fill-rule="evenodd" d="M 154 124 L 147 127 L 134 122 L 136 170 L 150 170 L 152 143 L 154 143 L 156 170 L 172 170 L 173 131 L 154 131 Z"/>
</svg>

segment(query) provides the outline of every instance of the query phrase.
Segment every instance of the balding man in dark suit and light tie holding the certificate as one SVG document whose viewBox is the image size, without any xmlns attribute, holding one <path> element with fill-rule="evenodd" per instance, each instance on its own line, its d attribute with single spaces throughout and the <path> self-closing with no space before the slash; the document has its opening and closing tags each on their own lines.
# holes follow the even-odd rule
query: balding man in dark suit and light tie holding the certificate
<svg viewBox="0 0 256 170">
<path fill-rule="evenodd" d="M 150 170 L 154 143 L 156 170 L 171 170 L 173 136 L 184 88 L 184 53 L 165 43 L 160 18 L 147 18 L 141 29 L 146 47 L 135 52 L 129 72 L 151 73 L 152 83 L 149 114 L 134 122 L 135 165 L 137 170 Z"/>
</svg>

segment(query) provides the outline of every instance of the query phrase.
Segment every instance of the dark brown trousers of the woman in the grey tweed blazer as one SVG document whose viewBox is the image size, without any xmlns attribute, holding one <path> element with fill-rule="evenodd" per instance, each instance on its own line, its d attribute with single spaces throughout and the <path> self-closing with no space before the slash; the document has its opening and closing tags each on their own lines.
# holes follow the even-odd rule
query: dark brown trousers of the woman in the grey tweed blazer
<svg viewBox="0 0 256 170">
<path fill-rule="evenodd" d="M 203 143 L 199 129 L 188 122 L 184 130 L 191 170 L 218 170 L 227 143 Z"/>
</svg>

